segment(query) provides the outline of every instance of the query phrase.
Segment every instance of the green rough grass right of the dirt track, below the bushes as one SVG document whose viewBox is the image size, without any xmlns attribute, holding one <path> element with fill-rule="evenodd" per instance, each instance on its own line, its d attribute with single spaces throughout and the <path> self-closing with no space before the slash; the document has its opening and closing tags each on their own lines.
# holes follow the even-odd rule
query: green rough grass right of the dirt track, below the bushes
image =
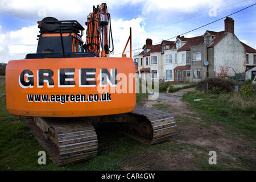
<svg viewBox="0 0 256 182">
<path fill-rule="evenodd" d="M 203 98 L 194 102 L 194 99 Z M 191 109 L 200 113 L 208 124 L 220 122 L 233 131 L 256 138 L 256 98 L 243 98 L 239 94 L 205 94 L 189 92 L 183 96 Z M 256 146 L 255 146 L 256 147 Z"/>
</svg>

